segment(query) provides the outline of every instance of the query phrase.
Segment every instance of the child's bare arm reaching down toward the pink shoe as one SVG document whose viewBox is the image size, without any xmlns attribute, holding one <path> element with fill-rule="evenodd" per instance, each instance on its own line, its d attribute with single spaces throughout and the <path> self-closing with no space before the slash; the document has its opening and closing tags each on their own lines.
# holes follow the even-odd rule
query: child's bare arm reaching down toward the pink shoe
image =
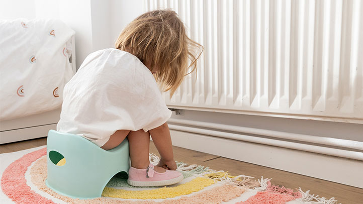
<svg viewBox="0 0 363 204">
<path fill-rule="evenodd" d="M 170 131 L 167 123 L 149 130 L 149 133 L 157 151 L 160 153 L 161 158 L 159 165 L 162 167 L 165 164 L 170 170 L 175 170 L 176 163 L 174 161 Z"/>
</svg>

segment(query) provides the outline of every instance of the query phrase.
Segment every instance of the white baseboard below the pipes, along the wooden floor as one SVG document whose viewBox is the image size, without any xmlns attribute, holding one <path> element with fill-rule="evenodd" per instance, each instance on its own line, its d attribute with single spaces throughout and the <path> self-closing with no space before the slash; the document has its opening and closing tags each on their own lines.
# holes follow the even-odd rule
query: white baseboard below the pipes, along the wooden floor
<svg viewBox="0 0 363 204">
<path fill-rule="evenodd" d="M 174 146 L 363 188 L 362 161 L 172 129 L 170 134 Z"/>
</svg>

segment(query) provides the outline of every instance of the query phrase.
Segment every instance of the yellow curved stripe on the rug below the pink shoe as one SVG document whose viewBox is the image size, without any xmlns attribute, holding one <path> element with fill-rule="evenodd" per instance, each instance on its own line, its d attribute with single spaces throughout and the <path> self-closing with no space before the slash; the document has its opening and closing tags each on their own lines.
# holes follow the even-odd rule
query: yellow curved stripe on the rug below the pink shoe
<svg viewBox="0 0 363 204">
<path fill-rule="evenodd" d="M 180 195 L 187 195 L 197 192 L 209 185 L 214 184 L 214 180 L 208 177 L 197 177 L 187 183 L 175 187 L 161 187 L 149 190 L 125 190 L 105 187 L 102 196 L 117 197 L 124 199 L 160 199 L 171 198 Z"/>
</svg>

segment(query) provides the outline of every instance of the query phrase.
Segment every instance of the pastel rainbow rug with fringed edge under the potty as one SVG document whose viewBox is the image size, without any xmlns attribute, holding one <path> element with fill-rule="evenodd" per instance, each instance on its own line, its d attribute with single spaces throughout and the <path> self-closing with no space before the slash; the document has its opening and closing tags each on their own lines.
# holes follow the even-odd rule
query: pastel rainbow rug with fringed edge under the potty
<svg viewBox="0 0 363 204">
<path fill-rule="evenodd" d="M 159 158 L 150 154 L 150 161 Z M 209 167 L 188 165 L 177 161 L 184 180 L 163 187 L 133 187 L 122 174 L 106 185 L 102 197 L 73 199 L 56 193 L 45 185 L 47 177 L 46 146 L 0 155 L 0 203 L 233 203 L 233 204 L 337 204 L 334 197 L 326 199 L 308 191 L 271 184 L 261 177 L 232 176 Z"/>
</svg>

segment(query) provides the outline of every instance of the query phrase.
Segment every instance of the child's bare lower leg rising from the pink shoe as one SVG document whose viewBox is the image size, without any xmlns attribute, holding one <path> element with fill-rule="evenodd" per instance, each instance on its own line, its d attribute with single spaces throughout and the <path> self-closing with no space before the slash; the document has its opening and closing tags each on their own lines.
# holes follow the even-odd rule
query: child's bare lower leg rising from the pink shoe
<svg viewBox="0 0 363 204">
<path fill-rule="evenodd" d="M 131 166 L 137 169 L 146 169 L 149 166 L 149 147 L 150 133 L 144 132 L 143 129 L 130 131 L 127 136 L 129 140 L 129 151 L 131 157 Z M 165 172 L 162 167 L 154 166 L 157 172 Z"/>
</svg>

